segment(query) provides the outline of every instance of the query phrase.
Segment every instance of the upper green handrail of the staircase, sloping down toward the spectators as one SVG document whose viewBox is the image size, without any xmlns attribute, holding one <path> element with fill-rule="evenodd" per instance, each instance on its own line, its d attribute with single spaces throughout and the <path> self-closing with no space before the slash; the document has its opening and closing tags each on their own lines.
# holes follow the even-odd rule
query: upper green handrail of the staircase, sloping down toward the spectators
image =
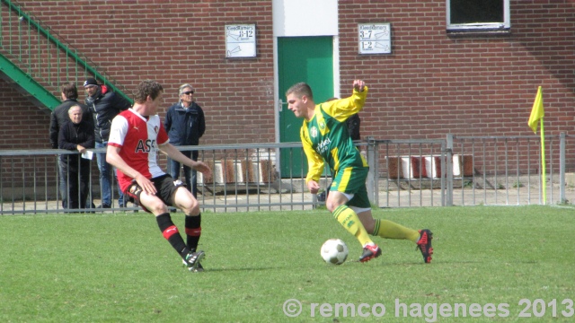
<svg viewBox="0 0 575 323">
<path fill-rule="evenodd" d="M 66 44 L 62 43 L 61 41 L 59 41 L 56 37 L 54 37 L 48 30 L 46 30 L 45 28 L 43 28 L 42 26 L 40 26 L 40 23 L 35 22 L 34 20 L 31 19 L 31 17 L 22 12 L 22 9 L 16 5 L 13 4 L 12 1 L 10 0 L 0 0 L 0 2 L 3 2 L 4 4 L 8 5 L 8 7 L 18 13 L 19 19 L 21 20 L 21 22 L 28 22 L 29 26 L 35 28 L 36 30 L 39 31 L 39 34 L 42 34 L 46 37 L 46 39 L 49 40 L 50 43 L 54 44 L 57 46 L 58 49 L 62 49 L 65 53 L 66 53 L 66 57 L 70 57 L 72 59 L 75 60 L 76 62 L 76 68 L 77 65 L 81 65 L 84 70 L 86 71 L 87 74 L 92 74 L 93 77 L 96 80 L 101 80 L 102 83 L 104 83 L 105 85 L 111 87 L 111 89 L 114 92 L 117 92 L 119 95 L 121 95 L 122 97 L 124 97 L 126 100 L 128 100 L 130 103 L 133 103 L 134 100 L 132 100 L 131 98 L 128 97 L 128 95 L 126 95 L 124 92 L 122 92 L 121 90 L 119 90 L 119 88 L 117 88 L 113 83 L 111 83 L 104 75 L 102 75 L 101 73 L 99 73 L 95 68 L 93 68 L 91 65 L 88 65 L 88 63 L 86 63 L 84 61 L 84 59 L 82 59 L 81 57 L 79 57 L 75 51 L 72 51 L 70 48 L 68 48 L 66 46 Z M 22 50 L 22 49 L 21 49 Z M 58 58 L 59 61 L 59 58 Z"/>
</svg>

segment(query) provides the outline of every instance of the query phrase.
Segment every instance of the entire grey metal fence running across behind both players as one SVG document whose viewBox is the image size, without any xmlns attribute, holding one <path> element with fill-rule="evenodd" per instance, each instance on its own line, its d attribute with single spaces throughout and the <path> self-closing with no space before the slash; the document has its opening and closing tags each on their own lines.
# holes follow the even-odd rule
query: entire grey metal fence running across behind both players
<svg viewBox="0 0 575 323">
<path fill-rule="evenodd" d="M 545 183 L 541 176 L 540 141 L 535 135 L 369 138 L 357 145 L 370 165 L 367 191 L 375 207 L 567 204 L 575 198 L 574 138 L 561 134 L 545 139 Z M 305 156 L 300 143 L 180 149 L 198 150 L 199 159 L 208 162 L 213 170 L 211 178 L 199 174 L 198 199 L 203 211 L 304 210 L 323 205 L 321 198 L 307 192 Z M 0 151 L 0 213 L 102 212 L 93 206 L 82 210 L 62 207 L 57 189 L 57 158 L 66 154 L 72 153 Z M 277 158 L 280 154 L 281 159 Z M 279 172 L 286 169 L 279 167 L 280 161 L 288 162 L 288 173 Z M 164 155 L 160 155 L 159 163 L 166 170 Z M 89 199 L 98 205 L 102 194 L 95 157 L 92 164 Z M 330 182 L 326 170 L 320 184 L 327 188 Z M 105 212 L 137 210 L 131 204 L 120 208 L 115 202 L 116 185 L 112 187 L 114 202 Z"/>
</svg>

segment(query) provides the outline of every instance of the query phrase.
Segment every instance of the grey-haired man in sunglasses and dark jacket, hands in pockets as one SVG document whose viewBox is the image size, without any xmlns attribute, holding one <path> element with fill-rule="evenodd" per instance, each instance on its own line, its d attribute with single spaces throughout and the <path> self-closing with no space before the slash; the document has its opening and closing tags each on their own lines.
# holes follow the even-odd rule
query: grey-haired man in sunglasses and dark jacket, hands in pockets
<svg viewBox="0 0 575 323">
<path fill-rule="evenodd" d="M 198 145 L 199 138 L 206 132 L 204 110 L 194 100 L 194 88 L 186 83 L 178 89 L 180 100 L 172 107 L 164 119 L 164 127 L 174 146 Z M 186 157 L 198 161 L 198 151 L 182 151 Z M 191 173 L 191 174 L 190 174 Z M 198 197 L 198 172 L 183 165 L 183 176 L 186 185 L 194 197 Z M 180 162 L 170 159 L 170 175 L 180 178 Z M 191 176 L 190 176 L 191 175 Z"/>
</svg>

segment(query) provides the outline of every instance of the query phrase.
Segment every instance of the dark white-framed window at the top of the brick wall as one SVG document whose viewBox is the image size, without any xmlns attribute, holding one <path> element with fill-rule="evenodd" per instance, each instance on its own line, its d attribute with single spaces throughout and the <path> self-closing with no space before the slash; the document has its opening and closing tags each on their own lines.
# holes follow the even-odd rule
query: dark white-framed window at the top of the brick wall
<svg viewBox="0 0 575 323">
<path fill-rule="evenodd" d="M 509 0 L 446 0 L 447 31 L 508 31 Z"/>
</svg>

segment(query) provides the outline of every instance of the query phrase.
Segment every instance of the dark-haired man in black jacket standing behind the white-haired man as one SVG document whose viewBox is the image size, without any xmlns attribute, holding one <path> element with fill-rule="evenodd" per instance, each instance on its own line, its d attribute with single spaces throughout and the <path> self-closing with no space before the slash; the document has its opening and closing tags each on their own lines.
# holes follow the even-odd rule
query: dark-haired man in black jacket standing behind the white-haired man
<svg viewBox="0 0 575 323">
<path fill-rule="evenodd" d="M 50 145 L 53 149 L 57 149 L 57 135 L 60 128 L 68 121 L 68 109 L 72 106 L 79 106 L 82 109 L 82 119 L 93 127 L 92 112 L 82 103 L 78 103 L 78 88 L 73 82 L 66 82 L 62 84 L 62 104 L 58 105 L 50 115 L 50 128 L 49 138 Z M 62 207 L 67 208 L 67 194 L 66 194 L 66 171 L 63 168 L 62 162 L 58 159 L 58 173 L 60 178 L 60 196 L 62 196 Z M 91 203 L 88 204 L 91 206 Z"/>
</svg>

